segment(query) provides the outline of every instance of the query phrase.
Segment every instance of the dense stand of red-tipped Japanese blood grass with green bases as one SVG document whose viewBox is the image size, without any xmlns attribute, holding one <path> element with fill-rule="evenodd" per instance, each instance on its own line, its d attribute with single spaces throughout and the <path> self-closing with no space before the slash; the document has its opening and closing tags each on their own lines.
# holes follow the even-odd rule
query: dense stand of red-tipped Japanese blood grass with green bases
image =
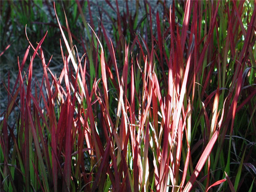
<svg viewBox="0 0 256 192">
<path fill-rule="evenodd" d="M 92 18 L 88 25 L 76 3 L 89 36 L 82 40 L 85 55 L 73 46 L 67 17 L 68 39 L 55 11 L 63 40 L 61 74 L 50 71 L 50 61 L 46 65 L 45 34 L 36 48 L 30 43 L 14 88 L 7 86 L 1 188 L 251 190 L 256 173 L 250 157 L 256 125 L 253 2 L 173 2 L 160 18 L 145 1 L 147 14 L 138 23 L 129 19 L 128 5 L 121 16 L 116 2 L 113 34 L 101 21 L 102 31 Z M 41 84 L 32 80 L 37 56 L 44 69 Z M 20 113 L 16 127 L 10 127 L 14 106 Z"/>
</svg>

